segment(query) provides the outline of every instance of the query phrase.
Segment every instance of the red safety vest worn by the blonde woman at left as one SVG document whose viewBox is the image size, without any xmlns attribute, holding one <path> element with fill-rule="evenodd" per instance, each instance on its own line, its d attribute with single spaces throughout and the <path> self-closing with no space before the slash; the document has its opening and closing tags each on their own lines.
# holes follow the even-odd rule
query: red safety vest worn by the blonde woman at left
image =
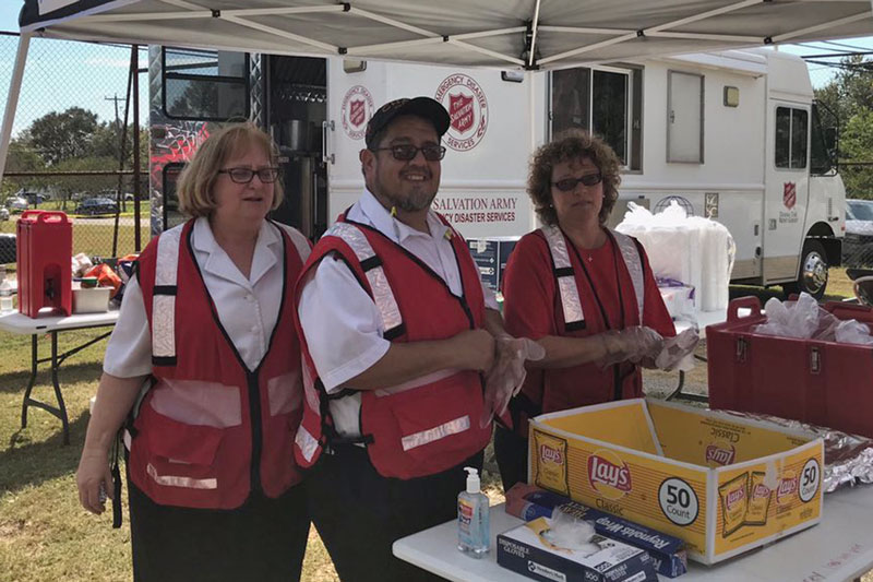
<svg viewBox="0 0 873 582">
<path fill-rule="evenodd" d="M 302 385 L 290 285 L 302 261 L 279 228 L 283 301 L 266 355 L 248 370 L 194 260 L 192 226 L 162 234 L 139 260 L 155 383 L 133 424 L 129 468 L 157 503 L 234 509 L 252 492 L 276 498 L 301 479 L 292 450 Z"/>
</svg>

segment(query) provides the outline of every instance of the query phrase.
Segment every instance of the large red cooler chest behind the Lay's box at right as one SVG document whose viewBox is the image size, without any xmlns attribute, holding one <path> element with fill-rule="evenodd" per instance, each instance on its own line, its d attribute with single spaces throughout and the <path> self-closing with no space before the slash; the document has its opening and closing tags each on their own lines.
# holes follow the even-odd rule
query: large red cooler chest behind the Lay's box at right
<svg viewBox="0 0 873 582">
<path fill-rule="evenodd" d="M 740 308 L 751 314 L 739 317 Z M 839 319 L 870 326 L 873 309 L 828 302 Z M 763 413 L 873 437 L 873 346 L 760 335 L 757 297 L 734 299 L 725 323 L 706 328 L 709 406 Z"/>
</svg>

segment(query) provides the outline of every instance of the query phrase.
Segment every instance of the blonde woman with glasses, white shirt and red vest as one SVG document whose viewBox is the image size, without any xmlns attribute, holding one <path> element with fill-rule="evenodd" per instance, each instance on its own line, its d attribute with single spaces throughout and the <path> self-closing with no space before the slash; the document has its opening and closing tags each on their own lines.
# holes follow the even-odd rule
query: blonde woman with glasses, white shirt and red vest
<svg viewBox="0 0 873 582">
<path fill-rule="evenodd" d="M 282 201 L 277 177 L 275 146 L 254 126 L 208 136 L 180 177 L 190 219 L 148 244 L 124 293 L 76 483 L 82 506 L 101 513 L 128 419 L 134 580 L 300 578 L 309 516 L 292 451 L 292 288 L 310 245 L 266 218 Z"/>
</svg>

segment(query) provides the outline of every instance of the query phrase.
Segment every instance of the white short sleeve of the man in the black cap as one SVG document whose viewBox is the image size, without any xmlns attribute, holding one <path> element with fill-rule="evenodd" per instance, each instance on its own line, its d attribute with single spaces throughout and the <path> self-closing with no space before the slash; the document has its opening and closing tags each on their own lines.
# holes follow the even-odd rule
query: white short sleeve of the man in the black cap
<svg viewBox="0 0 873 582">
<path fill-rule="evenodd" d="M 369 369 L 391 347 L 382 318 L 348 265 L 325 257 L 300 293 L 300 325 L 328 393 Z"/>
</svg>

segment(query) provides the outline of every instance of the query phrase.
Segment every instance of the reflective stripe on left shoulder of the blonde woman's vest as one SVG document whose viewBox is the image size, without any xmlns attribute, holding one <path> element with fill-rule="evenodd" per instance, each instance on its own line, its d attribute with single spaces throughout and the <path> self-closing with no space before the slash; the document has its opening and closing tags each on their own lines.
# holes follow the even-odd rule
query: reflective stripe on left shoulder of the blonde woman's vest
<svg viewBox="0 0 873 582">
<path fill-rule="evenodd" d="M 171 228 L 157 240 L 155 289 L 152 295 L 152 361 L 176 364 L 176 277 L 182 228 Z"/>
</svg>

